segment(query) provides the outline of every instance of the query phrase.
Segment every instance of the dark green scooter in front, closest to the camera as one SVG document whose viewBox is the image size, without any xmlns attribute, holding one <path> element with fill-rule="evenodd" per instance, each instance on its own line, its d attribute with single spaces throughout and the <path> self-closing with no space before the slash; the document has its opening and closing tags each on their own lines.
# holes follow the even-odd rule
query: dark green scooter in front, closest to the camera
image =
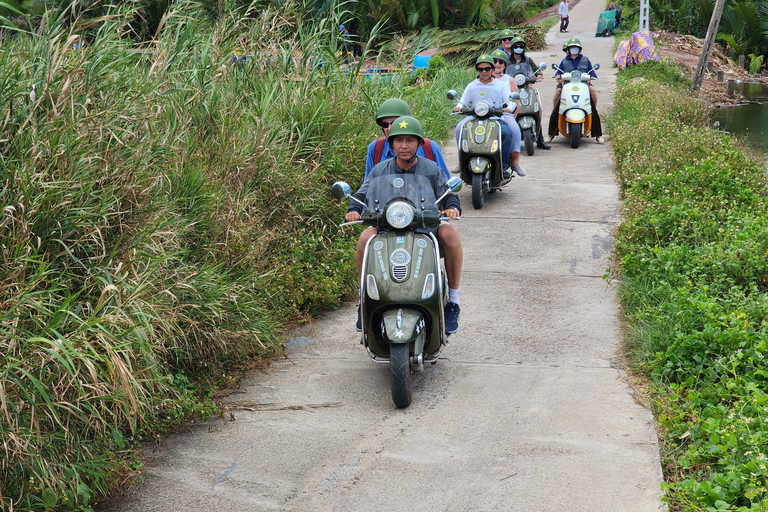
<svg viewBox="0 0 768 512">
<path fill-rule="evenodd" d="M 360 276 L 361 343 L 375 362 L 389 364 L 392 400 L 399 408 L 413 400 L 411 372 L 436 363 L 448 341 L 443 318 L 448 281 L 436 236 L 445 217 L 437 205 L 461 187 L 461 179 L 451 178 L 438 199 L 425 176 L 381 176 L 370 179 L 368 204 L 353 197 L 343 181 L 331 189 L 337 199 L 364 206 L 360 220 L 341 226 L 362 223 L 378 230 L 365 247 Z"/>
</svg>

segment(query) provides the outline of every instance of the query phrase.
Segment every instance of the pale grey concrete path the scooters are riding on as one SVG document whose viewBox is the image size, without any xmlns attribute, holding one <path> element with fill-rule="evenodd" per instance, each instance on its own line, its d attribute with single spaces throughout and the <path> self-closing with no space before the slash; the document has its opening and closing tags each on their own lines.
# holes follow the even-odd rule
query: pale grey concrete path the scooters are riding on
<svg viewBox="0 0 768 512">
<path fill-rule="evenodd" d="M 570 32 L 555 27 L 534 57 L 559 61 L 565 38 L 579 37 L 604 65 L 606 112 L 615 70 L 613 38 L 593 37 L 602 7 L 581 0 Z M 522 159 L 529 176 L 482 210 L 460 193 L 461 327 L 415 376 L 410 408 L 394 408 L 387 367 L 368 358 L 347 305 L 242 383 L 229 397 L 235 421 L 148 450 L 147 478 L 99 510 L 658 510 L 654 421 L 625 382 L 614 290 L 601 278 L 620 208 L 610 149 L 558 137 Z"/>
</svg>

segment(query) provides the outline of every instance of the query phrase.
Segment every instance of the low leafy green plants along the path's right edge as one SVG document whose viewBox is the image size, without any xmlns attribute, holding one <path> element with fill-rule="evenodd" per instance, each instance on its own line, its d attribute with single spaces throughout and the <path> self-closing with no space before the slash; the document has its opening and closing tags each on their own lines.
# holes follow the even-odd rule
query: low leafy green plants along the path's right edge
<svg viewBox="0 0 768 512">
<path fill-rule="evenodd" d="M 670 510 L 768 510 L 766 169 L 707 128 L 689 86 L 667 63 L 619 72 L 611 277 Z"/>
</svg>

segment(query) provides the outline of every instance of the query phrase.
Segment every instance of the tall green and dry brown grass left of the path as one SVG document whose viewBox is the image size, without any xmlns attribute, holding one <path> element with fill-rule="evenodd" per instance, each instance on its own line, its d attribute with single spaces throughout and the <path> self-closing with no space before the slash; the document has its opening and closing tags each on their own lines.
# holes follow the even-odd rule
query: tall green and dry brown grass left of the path
<svg viewBox="0 0 768 512">
<path fill-rule="evenodd" d="M 360 183 L 381 101 L 445 133 L 442 74 L 358 82 L 333 19 L 198 12 L 176 4 L 143 53 L 127 10 L 6 32 L 3 510 L 87 508 L 134 443 L 211 413 L 200 379 L 279 352 L 286 322 L 351 295 L 355 234 L 328 185 Z"/>
</svg>

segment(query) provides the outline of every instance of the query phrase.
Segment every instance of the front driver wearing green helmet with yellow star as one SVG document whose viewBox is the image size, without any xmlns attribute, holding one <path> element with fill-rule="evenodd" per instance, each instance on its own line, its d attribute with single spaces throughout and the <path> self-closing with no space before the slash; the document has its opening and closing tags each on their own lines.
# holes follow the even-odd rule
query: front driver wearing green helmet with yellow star
<svg viewBox="0 0 768 512">
<path fill-rule="evenodd" d="M 384 160 L 377 164 L 370 175 L 363 182 L 363 185 L 355 193 L 355 198 L 365 203 L 366 192 L 370 180 L 381 176 L 392 176 L 395 179 L 398 174 L 414 173 L 427 177 L 434 186 L 435 197 L 440 197 L 445 193 L 445 185 L 448 181 L 445 173 L 440 170 L 437 164 L 426 158 L 417 156 L 417 151 L 424 144 L 424 132 L 421 123 L 411 116 L 398 117 L 387 137 L 389 144 L 395 152 L 395 158 Z M 344 216 L 346 222 L 354 222 L 360 219 L 362 205 L 357 201 L 351 201 L 347 214 Z M 461 203 L 458 196 L 448 194 L 440 204 L 440 212 L 450 219 L 457 219 L 461 215 Z M 376 228 L 368 227 L 360 235 L 357 242 L 357 275 L 360 276 L 363 267 L 363 256 L 365 245 L 368 240 L 376 234 Z M 445 258 L 445 272 L 448 277 L 448 302 L 445 305 L 445 330 L 452 334 L 459 329 L 459 284 L 461 281 L 461 265 L 464 259 L 464 253 L 461 248 L 461 239 L 458 230 L 448 222 L 443 222 L 437 228 L 437 240 L 440 243 L 440 250 Z M 362 330 L 360 321 L 360 308 L 357 310 L 357 330 Z"/>
</svg>

